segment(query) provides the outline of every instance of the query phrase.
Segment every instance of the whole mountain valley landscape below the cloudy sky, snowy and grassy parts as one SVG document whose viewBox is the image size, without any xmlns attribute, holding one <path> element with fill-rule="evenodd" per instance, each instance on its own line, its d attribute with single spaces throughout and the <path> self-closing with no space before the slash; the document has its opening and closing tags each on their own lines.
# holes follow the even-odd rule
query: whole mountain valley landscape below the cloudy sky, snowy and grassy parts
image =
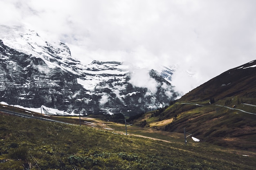
<svg viewBox="0 0 256 170">
<path fill-rule="evenodd" d="M 180 96 L 175 67 L 82 64 L 1 29 L 0 169 L 255 169 L 256 60 Z"/>
</svg>

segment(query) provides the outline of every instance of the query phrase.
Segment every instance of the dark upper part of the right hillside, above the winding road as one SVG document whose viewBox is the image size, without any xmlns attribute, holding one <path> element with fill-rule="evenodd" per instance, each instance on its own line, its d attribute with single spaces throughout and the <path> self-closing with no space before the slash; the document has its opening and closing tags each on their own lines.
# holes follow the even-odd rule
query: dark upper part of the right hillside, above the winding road
<svg viewBox="0 0 256 170">
<path fill-rule="evenodd" d="M 204 101 L 231 96 L 256 97 L 256 60 L 230 69 L 184 95 L 180 101 Z"/>
</svg>

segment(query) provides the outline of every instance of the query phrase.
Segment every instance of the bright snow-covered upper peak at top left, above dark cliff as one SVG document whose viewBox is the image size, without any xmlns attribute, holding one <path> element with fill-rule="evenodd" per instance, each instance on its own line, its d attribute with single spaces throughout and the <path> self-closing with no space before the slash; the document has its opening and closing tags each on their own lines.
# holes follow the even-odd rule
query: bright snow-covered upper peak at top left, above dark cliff
<svg viewBox="0 0 256 170">
<path fill-rule="evenodd" d="M 10 48 L 41 58 L 50 68 L 59 67 L 63 71 L 76 73 L 70 65 L 80 62 L 71 57 L 69 47 L 63 42 L 49 43 L 35 31 L 21 26 L 0 25 L 0 29 L 0 39 Z"/>
</svg>

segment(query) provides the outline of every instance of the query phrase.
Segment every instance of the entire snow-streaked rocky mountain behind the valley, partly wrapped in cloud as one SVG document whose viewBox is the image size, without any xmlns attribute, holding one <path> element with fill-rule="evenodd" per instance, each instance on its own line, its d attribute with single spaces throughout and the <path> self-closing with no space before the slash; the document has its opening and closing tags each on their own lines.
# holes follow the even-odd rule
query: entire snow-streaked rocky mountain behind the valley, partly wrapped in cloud
<svg viewBox="0 0 256 170">
<path fill-rule="evenodd" d="M 62 42 L 47 42 L 35 31 L 0 26 L 0 101 L 68 113 L 134 115 L 177 97 L 174 69 L 131 70 L 121 62 L 81 64 Z"/>
</svg>

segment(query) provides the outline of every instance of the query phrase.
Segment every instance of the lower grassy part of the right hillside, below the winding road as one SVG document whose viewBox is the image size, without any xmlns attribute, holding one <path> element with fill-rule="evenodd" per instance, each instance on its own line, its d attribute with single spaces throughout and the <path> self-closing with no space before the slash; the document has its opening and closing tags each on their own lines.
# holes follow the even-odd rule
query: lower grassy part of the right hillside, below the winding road
<svg viewBox="0 0 256 170">
<path fill-rule="evenodd" d="M 206 103 L 200 103 L 202 104 Z M 232 107 L 231 105 L 232 103 L 228 106 Z M 236 108 L 256 113 L 254 106 L 238 104 Z M 180 102 L 162 113 L 156 114 L 157 112 L 159 110 L 146 119 L 150 127 L 170 132 L 183 132 L 186 128 L 188 132 L 211 144 L 256 151 L 256 115 L 215 104 L 198 106 Z"/>
</svg>

